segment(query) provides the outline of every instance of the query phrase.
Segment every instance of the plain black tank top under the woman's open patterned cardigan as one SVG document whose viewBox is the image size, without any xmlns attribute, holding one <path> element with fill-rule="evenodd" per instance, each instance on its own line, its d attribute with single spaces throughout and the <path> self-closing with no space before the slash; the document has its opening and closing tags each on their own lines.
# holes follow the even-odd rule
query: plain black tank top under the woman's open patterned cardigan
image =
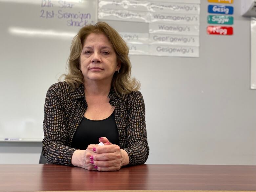
<svg viewBox="0 0 256 192">
<path fill-rule="evenodd" d="M 106 137 L 112 144 L 119 145 L 115 111 L 103 120 L 90 120 L 83 117 L 76 129 L 71 147 L 85 150 L 90 144 L 98 144 L 100 137 Z"/>
</svg>

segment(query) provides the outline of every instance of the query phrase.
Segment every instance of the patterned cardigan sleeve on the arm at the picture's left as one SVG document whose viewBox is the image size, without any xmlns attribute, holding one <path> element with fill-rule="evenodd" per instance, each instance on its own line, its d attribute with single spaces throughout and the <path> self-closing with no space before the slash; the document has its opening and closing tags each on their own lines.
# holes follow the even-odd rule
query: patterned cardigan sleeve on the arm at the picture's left
<svg viewBox="0 0 256 192">
<path fill-rule="evenodd" d="M 56 83 L 48 89 L 45 99 L 43 155 L 49 163 L 71 166 L 76 149 L 66 146 L 65 111 L 59 98 Z"/>
</svg>

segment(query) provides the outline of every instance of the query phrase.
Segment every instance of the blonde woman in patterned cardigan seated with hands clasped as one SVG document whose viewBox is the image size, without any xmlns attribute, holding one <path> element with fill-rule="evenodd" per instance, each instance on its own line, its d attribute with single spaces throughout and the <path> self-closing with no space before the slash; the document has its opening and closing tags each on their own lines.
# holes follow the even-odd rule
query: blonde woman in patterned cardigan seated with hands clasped
<svg viewBox="0 0 256 192">
<path fill-rule="evenodd" d="M 130 78 L 128 53 L 108 24 L 80 29 L 65 81 L 46 95 L 43 155 L 49 163 L 116 171 L 146 162 L 145 106 L 139 82 Z"/>
</svg>

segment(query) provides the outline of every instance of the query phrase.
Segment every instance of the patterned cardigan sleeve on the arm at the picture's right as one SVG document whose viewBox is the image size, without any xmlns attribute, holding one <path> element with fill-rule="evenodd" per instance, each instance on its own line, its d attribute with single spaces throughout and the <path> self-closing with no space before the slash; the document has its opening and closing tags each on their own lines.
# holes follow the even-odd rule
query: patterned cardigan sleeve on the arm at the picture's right
<svg viewBox="0 0 256 192">
<path fill-rule="evenodd" d="M 145 163 L 149 155 L 145 124 L 145 104 L 139 91 L 130 98 L 130 113 L 127 121 L 127 148 L 129 165 Z"/>
</svg>

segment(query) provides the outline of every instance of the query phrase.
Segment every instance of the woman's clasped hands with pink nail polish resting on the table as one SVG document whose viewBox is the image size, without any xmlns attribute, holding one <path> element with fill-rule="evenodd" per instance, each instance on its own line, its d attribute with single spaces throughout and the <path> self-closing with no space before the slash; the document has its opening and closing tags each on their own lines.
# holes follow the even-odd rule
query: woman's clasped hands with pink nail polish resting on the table
<svg viewBox="0 0 256 192">
<path fill-rule="evenodd" d="M 117 171 L 129 163 L 129 157 L 125 150 L 118 145 L 113 145 L 107 138 L 99 138 L 104 146 L 88 145 L 86 150 L 76 150 L 71 163 L 74 166 L 88 170 Z"/>
</svg>

